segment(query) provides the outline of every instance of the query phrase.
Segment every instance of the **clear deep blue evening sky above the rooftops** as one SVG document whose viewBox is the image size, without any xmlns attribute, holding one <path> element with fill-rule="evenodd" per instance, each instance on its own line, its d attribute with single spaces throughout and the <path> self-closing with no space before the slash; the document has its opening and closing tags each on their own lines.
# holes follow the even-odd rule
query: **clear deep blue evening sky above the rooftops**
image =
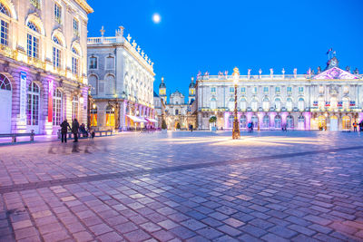
<svg viewBox="0 0 363 242">
<path fill-rule="evenodd" d="M 89 0 L 88 35 L 113 36 L 119 25 L 154 63 L 157 90 L 163 76 L 167 92 L 188 93 L 191 76 L 217 74 L 306 73 L 325 68 L 327 51 L 339 65 L 363 73 L 363 1 L 360 0 Z M 160 24 L 152 15 L 162 16 Z"/>
</svg>

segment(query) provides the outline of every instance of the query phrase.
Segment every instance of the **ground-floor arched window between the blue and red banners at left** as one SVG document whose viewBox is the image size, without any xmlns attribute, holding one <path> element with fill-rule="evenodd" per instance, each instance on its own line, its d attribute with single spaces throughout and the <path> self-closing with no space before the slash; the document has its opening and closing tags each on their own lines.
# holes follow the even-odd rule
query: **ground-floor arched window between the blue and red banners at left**
<svg viewBox="0 0 363 242">
<path fill-rule="evenodd" d="M 28 97 L 27 106 L 26 106 L 27 125 L 30 126 L 39 125 L 40 88 L 35 82 L 30 83 L 27 97 Z"/>
</svg>

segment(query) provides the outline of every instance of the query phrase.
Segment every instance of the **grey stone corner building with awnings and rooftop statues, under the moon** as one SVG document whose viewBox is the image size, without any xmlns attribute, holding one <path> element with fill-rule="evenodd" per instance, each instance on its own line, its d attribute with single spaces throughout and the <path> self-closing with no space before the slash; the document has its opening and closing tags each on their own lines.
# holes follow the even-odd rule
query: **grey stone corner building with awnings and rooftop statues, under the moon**
<svg viewBox="0 0 363 242">
<path fill-rule="evenodd" d="M 113 37 L 88 38 L 90 126 L 99 130 L 155 127 L 153 63 L 123 27 Z"/>
</svg>

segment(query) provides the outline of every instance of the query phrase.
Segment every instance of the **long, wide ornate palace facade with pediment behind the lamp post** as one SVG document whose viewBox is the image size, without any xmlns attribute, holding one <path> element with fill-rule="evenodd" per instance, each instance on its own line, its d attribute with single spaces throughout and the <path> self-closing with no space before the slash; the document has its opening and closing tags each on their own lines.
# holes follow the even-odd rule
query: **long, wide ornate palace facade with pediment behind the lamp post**
<svg viewBox="0 0 363 242">
<path fill-rule="evenodd" d="M 353 121 L 363 119 L 363 82 L 358 70 L 338 68 L 334 56 L 324 72 L 315 74 L 241 75 L 238 82 L 240 129 L 253 122 L 259 130 L 349 130 Z M 198 126 L 210 129 L 217 118 L 219 129 L 232 128 L 234 84 L 231 75 L 208 73 L 197 78 Z"/>
</svg>

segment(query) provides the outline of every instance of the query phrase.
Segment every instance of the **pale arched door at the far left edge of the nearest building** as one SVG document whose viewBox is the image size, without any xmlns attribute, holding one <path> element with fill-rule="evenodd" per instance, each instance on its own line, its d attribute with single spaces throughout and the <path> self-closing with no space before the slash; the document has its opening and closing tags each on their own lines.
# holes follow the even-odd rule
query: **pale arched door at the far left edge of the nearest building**
<svg viewBox="0 0 363 242">
<path fill-rule="evenodd" d="M 0 74 L 0 133 L 11 132 L 12 91 L 9 80 Z"/>
</svg>

